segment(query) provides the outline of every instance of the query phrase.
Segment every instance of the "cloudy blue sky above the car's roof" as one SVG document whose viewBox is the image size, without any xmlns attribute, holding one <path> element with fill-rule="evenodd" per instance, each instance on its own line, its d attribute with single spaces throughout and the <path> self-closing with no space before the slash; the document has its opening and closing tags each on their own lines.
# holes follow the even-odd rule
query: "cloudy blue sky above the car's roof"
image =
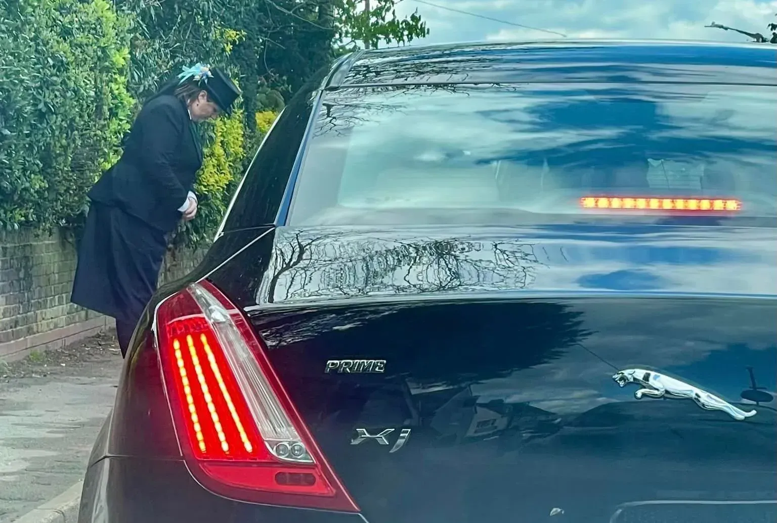
<svg viewBox="0 0 777 523">
<path fill-rule="evenodd" d="M 777 0 L 401 0 L 397 14 L 416 9 L 430 29 L 419 43 L 558 37 L 527 27 L 570 38 L 743 42 L 747 36 L 705 26 L 715 22 L 768 34 L 767 24 L 777 22 Z"/>
</svg>

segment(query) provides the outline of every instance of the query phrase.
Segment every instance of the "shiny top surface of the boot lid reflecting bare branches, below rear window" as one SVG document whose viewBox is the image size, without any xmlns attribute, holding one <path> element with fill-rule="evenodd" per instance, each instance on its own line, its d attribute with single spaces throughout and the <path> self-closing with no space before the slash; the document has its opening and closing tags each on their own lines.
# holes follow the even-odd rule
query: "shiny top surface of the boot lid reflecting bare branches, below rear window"
<svg viewBox="0 0 777 523">
<path fill-rule="evenodd" d="M 457 293 L 773 297 L 775 259 L 766 227 L 278 227 L 214 282 L 249 310 Z"/>
</svg>

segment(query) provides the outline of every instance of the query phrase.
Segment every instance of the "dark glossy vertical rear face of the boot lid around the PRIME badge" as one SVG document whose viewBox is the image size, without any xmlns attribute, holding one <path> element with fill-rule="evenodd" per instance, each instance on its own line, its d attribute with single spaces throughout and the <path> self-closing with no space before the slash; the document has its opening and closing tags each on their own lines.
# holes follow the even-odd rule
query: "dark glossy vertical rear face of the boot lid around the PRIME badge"
<svg viewBox="0 0 777 523">
<path fill-rule="evenodd" d="M 774 301 L 478 298 L 254 316 L 368 521 L 777 521 Z M 637 400 L 633 368 L 757 414 Z"/>
</svg>

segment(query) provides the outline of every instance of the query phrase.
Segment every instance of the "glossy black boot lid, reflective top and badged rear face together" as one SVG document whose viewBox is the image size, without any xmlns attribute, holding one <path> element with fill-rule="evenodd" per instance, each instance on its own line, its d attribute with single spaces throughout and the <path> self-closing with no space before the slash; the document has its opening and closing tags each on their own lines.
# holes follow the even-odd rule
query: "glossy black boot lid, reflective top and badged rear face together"
<svg viewBox="0 0 777 523">
<path fill-rule="evenodd" d="M 457 232 L 282 228 L 256 251 L 298 263 L 254 285 L 239 272 L 265 257 L 246 251 L 213 275 L 249 310 L 369 521 L 545 521 L 554 507 L 608 521 L 632 501 L 774 498 L 769 405 L 743 423 L 637 401 L 611 379 L 647 366 L 736 402 L 758 360 L 773 388 L 773 230 Z M 341 358 L 387 358 L 388 370 L 323 373 Z M 497 427 L 467 435 L 474 409 Z M 357 427 L 413 435 L 389 454 L 348 445 Z"/>
</svg>

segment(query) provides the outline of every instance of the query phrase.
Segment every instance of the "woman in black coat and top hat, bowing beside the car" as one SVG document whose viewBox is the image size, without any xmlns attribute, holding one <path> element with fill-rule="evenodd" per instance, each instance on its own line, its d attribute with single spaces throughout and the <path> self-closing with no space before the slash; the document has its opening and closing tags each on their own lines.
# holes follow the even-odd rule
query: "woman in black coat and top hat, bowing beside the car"
<svg viewBox="0 0 777 523">
<path fill-rule="evenodd" d="M 168 234 L 197 216 L 203 153 L 193 123 L 232 113 L 239 95 L 222 71 L 185 68 L 145 102 L 124 154 L 89 190 L 71 302 L 116 319 L 122 356 L 156 290 Z"/>
</svg>

